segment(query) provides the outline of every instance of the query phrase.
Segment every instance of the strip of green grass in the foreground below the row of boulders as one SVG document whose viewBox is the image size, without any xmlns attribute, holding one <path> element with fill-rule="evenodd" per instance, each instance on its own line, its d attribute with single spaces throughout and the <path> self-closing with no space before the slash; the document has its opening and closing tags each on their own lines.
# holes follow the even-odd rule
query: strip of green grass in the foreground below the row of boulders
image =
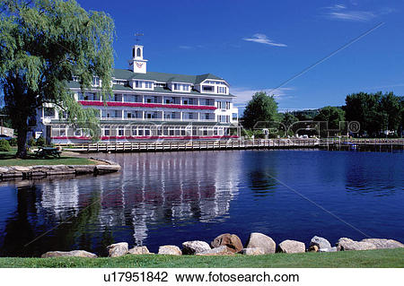
<svg viewBox="0 0 404 286">
<path fill-rule="evenodd" d="M 315 268 L 404 267 L 404 248 L 333 253 L 275 254 L 266 256 L 121 256 L 117 258 L 0 257 L 0 267 L 110 267 L 110 268 Z"/>
</svg>

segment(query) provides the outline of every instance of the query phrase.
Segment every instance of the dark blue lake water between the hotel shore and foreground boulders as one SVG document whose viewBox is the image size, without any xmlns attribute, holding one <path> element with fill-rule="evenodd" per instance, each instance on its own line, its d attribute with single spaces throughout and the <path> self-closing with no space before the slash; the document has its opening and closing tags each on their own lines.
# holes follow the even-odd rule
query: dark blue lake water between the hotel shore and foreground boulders
<svg viewBox="0 0 404 286">
<path fill-rule="evenodd" d="M 404 242 L 404 153 L 225 151 L 100 154 L 117 174 L 0 183 L 0 256 L 105 247 L 156 252 L 225 232 L 245 243 L 314 235 Z"/>
</svg>

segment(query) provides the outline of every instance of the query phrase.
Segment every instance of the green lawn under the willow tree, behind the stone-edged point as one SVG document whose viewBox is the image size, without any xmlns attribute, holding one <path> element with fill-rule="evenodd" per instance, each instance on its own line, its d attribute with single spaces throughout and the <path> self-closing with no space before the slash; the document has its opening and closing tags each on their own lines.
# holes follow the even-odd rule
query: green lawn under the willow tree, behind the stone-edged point
<svg viewBox="0 0 404 286">
<path fill-rule="evenodd" d="M 15 158 L 16 149 L 11 152 L 0 152 L 0 166 L 34 166 L 34 165 L 94 165 L 96 161 L 86 158 L 62 156 L 60 158 L 37 158 L 29 152 L 27 159 Z"/>
</svg>

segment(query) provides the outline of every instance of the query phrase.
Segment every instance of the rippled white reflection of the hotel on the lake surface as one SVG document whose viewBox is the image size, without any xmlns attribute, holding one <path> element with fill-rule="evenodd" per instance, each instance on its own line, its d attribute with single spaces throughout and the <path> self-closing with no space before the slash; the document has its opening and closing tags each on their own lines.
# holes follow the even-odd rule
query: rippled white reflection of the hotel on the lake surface
<svg viewBox="0 0 404 286">
<path fill-rule="evenodd" d="M 37 183 L 40 192 L 35 209 L 47 228 L 71 221 L 71 217 L 80 218 L 85 209 L 96 209 L 97 221 L 80 224 L 81 230 L 75 230 L 73 222 L 69 222 L 69 230 L 81 236 L 88 231 L 100 235 L 103 230 L 126 234 L 131 230 L 135 244 L 143 245 L 151 227 L 157 230 L 225 220 L 238 194 L 240 176 L 238 168 L 224 168 L 229 155 L 230 152 L 117 155 L 112 160 L 124 166 L 120 174 Z M 80 244 L 76 240 L 74 243 Z"/>
</svg>

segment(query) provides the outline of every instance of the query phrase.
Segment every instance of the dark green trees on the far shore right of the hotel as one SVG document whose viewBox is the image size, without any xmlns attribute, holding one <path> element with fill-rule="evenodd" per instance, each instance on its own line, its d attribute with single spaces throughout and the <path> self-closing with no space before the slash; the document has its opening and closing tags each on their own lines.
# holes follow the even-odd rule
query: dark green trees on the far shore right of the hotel
<svg viewBox="0 0 404 286">
<path fill-rule="evenodd" d="M 327 122 L 329 130 L 344 128 L 348 130 L 344 122 L 357 121 L 360 124 L 359 132 L 350 135 L 401 137 L 404 126 L 404 97 L 394 95 L 392 92 L 359 92 L 347 95 L 346 104 L 342 107 L 327 106 L 320 109 L 279 113 L 273 96 L 268 96 L 262 91 L 255 93 L 244 110 L 242 126 L 250 130 L 250 134 L 254 134 L 252 129 L 257 129 L 258 122 L 274 121 L 281 122 L 286 128 L 299 121 Z M 249 131 L 245 133 L 249 134 Z M 255 133 L 261 134 L 258 131 Z M 347 133 L 340 132 L 340 134 Z M 321 135 L 329 135 L 329 133 Z"/>
</svg>

